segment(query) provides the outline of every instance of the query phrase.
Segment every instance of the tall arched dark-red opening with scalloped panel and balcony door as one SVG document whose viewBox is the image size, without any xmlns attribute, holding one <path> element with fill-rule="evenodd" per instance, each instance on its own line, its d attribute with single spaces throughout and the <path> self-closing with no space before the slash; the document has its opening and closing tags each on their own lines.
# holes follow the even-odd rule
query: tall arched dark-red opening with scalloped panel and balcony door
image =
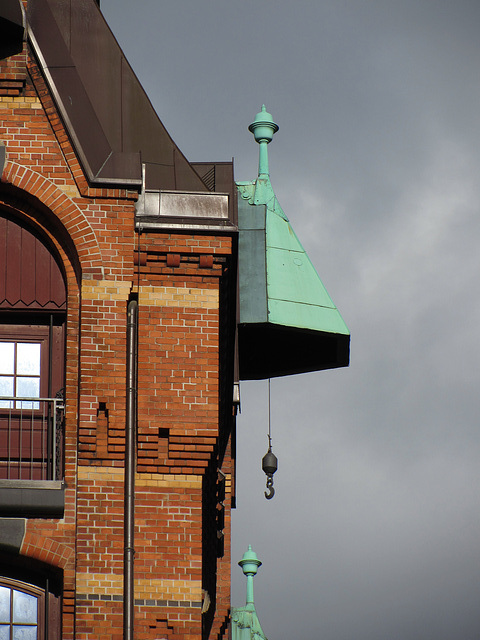
<svg viewBox="0 0 480 640">
<path fill-rule="evenodd" d="M 66 300 L 48 238 L 0 210 L 0 479 L 63 477 Z"/>
</svg>

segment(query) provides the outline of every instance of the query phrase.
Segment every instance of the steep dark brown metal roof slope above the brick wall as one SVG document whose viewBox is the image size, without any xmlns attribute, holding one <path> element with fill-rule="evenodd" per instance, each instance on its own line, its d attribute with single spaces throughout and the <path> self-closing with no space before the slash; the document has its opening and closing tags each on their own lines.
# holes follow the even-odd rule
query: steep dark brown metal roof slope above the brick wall
<svg viewBox="0 0 480 640">
<path fill-rule="evenodd" d="M 95 0 L 29 0 L 29 36 L 89 180 L 207 187 L 155 113 Z"/>
</svg>

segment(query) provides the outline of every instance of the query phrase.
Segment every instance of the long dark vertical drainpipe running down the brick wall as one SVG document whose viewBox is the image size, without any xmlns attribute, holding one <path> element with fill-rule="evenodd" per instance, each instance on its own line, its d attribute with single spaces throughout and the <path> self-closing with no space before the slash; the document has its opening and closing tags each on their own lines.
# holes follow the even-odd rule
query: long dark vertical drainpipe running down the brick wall
<svg viewBox="0 0 480 640">
<path fill-rule="evenodd" d="M 125 422 L 125 529 L 123 556 L 123 638 L 133 640 L 134 622 L 134 526 L 137 419 L 138 302 L 130 299 L 127 310 L 127 406 Z"/>
</svg>

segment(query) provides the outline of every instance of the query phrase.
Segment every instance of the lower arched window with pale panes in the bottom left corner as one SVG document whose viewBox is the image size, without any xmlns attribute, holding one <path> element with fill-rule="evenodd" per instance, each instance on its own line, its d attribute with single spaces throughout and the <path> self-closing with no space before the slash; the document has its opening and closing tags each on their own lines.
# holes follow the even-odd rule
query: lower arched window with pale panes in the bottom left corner
<svg viewBox="0 0 480 640">
<path fill-rule="evenodd" d="M 39 589 L 0 581 L 0 640 L 40 640 L 40 602 Z"/>
</svg>

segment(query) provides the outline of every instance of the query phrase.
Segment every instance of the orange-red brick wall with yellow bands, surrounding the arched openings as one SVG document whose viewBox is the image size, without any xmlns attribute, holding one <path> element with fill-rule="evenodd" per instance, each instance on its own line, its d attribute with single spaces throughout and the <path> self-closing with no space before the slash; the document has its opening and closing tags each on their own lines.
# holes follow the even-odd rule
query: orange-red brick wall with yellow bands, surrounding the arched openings
<svg viewBox="0 0 480 640">
<path fill-rule="evenodd" d="M 21 554 L 62 569 L 63 638 L 122 636 L 126 309 L 133 293 L 139 300 L 135 637 L 200 639 L 203 617 L 203 636 L 219 638 L 230 590 L 233 419 L 221 409 L 222 402 L 231 406 L 231 386 L 222 400 L 220 378 L 222 366 L 232 366 L 232 344 L 225 347 L 220 335 L 227 313 L 221 290 L 235 267 L 232 238 L 137 237 L 136 194 L 90 187 L 27 49 L 0 62 L 0 140 L 7 152 L 0 206 L 52 239 L 68 289 L 65 517 L 28 520 Z M 218 561 L 205 533 L 216 527 L 217 466 L 227 474 L 225 552 Z M 216 593 L 209 591 L 202 616 L 212 585 Z"/>
</svg>

